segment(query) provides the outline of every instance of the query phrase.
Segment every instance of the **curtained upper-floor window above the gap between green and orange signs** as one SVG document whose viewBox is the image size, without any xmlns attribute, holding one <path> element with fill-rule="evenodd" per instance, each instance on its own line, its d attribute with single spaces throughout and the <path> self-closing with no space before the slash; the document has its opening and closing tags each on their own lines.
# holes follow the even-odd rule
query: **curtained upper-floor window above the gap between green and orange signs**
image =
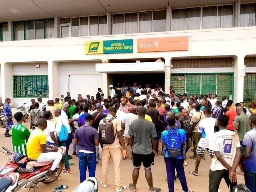
<svg viewBox="0 0 256 192">
<path fill-rule="evenodd" d="M 139 12 L 139 14 L 138 12 L 134 12 L 113 15 L 113 34 L 148 33 L 158 31 L 166 31 L 165 10 Z"/>
</svg>

